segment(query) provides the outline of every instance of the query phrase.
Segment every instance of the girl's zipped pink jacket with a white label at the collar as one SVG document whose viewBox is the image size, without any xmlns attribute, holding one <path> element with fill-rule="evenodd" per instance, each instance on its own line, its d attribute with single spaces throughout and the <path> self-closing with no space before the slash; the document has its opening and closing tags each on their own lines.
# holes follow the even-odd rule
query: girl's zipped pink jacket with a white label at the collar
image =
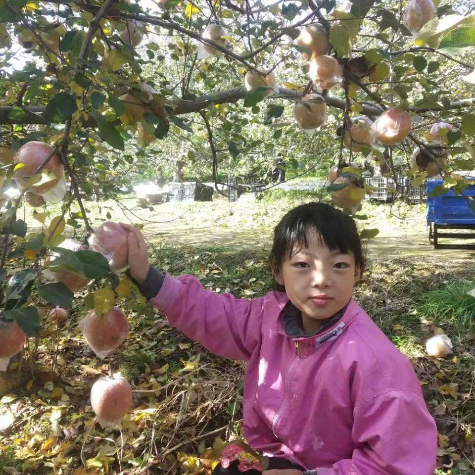
<svg viewBox="0 0 475 475">
<path fill-rule="evenodd" d="M 151 299 L 209 351 L 248 361 L 244 434 L 318 475 L 433 475 L 437 430 L 409 360 L 351 299 L 332 328 L 290 338 L 286 293 L 252 300 L 166 274 Z"/>
</svg>

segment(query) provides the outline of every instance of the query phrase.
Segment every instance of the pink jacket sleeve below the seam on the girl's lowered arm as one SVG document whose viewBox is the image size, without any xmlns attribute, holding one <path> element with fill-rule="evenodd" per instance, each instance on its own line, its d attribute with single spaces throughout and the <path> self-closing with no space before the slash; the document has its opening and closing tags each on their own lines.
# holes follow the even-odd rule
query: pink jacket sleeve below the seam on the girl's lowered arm
<svg viewBox="0 0 475 475">
<path fill-rule="evenodd" d="M 437 429 L 424 398 L 389 391 L 354 408 L 351 459 L 308 475 L 433 475 Z"/>
</svg>

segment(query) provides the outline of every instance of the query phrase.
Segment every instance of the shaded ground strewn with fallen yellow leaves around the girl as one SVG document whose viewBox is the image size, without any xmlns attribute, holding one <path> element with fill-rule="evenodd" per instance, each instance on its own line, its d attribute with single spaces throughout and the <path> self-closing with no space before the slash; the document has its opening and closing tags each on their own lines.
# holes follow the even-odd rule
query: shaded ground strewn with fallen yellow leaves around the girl
<svg viewBox="0 0 475 475">
<path fill-rule="evenodd" d="M 238 245 L 165 246 L 152 262 L 174 276 L 193 274 L 218 293 L 254 298 L 271 289 L 266 253 Z M 474 287 L 470 268 L 394 257 L 370 260 L 355 293 L 414 365 L 438 427 L 437 474 L 475 470 L 475 299 L 466 294 Z M 137 296 L 127 309 L 129 337 L 106 360 L 90 351 L 79 330 L 83 307 L 57 325 L 43 322 L 38 342 L 30 341 L 31 352 L 38 345 L 34 372 L 18 360 L 10 364 L 10 372 L 23 367 L 27 374 L 0 400 L 0 471 L 210 473 L 223 441 L 242 435 L 244 366 L 209 354 L 143 303 Z M 452 339 L 453 354 L 429 357 L 425 341 L 442 332 Z M 122 431 L 101 429 L 90 406 L 92 384 L 110 368 L 134 391 Z"/>
</svg>

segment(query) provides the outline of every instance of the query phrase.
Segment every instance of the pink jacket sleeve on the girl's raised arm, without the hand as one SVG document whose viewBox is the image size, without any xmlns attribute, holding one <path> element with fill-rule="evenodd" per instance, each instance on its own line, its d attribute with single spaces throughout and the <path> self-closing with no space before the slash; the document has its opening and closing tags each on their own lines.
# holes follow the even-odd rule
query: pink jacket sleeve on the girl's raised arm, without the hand
<svg viewBox="0 0 475 475">
<path fill-rule="evenodd" d="M 175 279 L 165 274 L 150 303 L 170 325 L 216 355 L 249 360 L 260 344 L 264 297 L 248 300 L 216 294 L 205 290 L 194 276 Z"/>
</svg>

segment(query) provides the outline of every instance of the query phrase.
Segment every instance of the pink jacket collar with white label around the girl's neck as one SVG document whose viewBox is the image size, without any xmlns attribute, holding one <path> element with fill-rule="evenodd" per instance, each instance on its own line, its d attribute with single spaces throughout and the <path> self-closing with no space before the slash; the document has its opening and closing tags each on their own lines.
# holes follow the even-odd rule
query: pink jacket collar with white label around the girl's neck
<svg viewBox="0 0 475 475">
<path fill-rule="evenodd" d="M 276 321 L 276 331 L 286 336 L 287 338 L 291 338 L 287 335 L 282 325 L 282 311 L 285 305 L 288 302 L 288 295 L 285 292 L 271 292 L 274 294 L 274 301 L 277 303 L 278 311 L 277 311 L 277 321 Z M 356 317 L 359 313 L 360 306 L 354 301 L 353 297 L 348 303 L 345 312 L 343 313 L 342 317 L 332 323 L 332 325 L 327 328 L 324 332 L 316 333 L 311 336 L 299 336 L 291 338 L 293 341 L 302 342 L 305 344 L 309 344 L 311 346 L 320 346 L 327 341 L 331 341 L 337 338 L 349 323 Z"/>
</svg>

